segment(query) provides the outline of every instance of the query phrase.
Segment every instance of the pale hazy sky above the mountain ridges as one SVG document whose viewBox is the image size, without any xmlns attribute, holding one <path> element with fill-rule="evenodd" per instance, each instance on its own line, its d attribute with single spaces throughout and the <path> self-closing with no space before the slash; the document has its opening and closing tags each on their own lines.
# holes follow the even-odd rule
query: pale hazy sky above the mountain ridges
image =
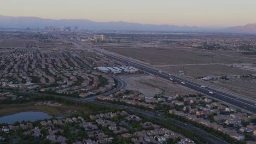
<svg viewBox="0 0 256 144">
<path fill-rule="evenodd" d="M 219 27 L 256 23 L 256 1 L 0 0 L 0 15 Z"/>
</svg>

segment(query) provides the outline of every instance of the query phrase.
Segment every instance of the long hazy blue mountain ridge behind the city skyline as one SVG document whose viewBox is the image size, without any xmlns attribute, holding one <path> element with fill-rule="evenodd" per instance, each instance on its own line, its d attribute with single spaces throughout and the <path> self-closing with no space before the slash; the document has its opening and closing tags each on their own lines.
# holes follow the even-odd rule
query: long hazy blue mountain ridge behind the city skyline
<svg viewBox="0 0 256 144">
<path fill-rule="evenodd" d="M 13 28 L 44 28 L 46 26 L 53 27 L 75 27 L 92 30 L 117 30 L 117 31 L 208 31 L 205 27 L 189 27 L 174 25 L 142 25 L 133 22 L 95 22 L 87 19 L 42 19 L 39 17 L 25 16 L 1 16 L 1 27 Z"/>
</svg>

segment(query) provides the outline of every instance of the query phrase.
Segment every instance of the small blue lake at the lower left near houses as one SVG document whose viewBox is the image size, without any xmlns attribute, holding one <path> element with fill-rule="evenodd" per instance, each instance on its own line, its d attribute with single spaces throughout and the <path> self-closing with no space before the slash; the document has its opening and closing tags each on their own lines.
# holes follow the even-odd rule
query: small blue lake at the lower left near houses
<svg viewBox="0 0 256 144">
<path fill-rule="evenodd" d="M 27 112 L 20 112 L 14 115 L 3 116 L 0 117 L 0 123 L 8 123 L 12 124 L 14 122 L 22 122 L 22 121 L 37 121 L 42 119 L 52 118 L 53 116 L 49 116 L 47 113 L 39 112 L 39 111 L 27 111 Z M 62 118 L 62 117 L 55 117 L 55 118 Z"/>
</svg>

